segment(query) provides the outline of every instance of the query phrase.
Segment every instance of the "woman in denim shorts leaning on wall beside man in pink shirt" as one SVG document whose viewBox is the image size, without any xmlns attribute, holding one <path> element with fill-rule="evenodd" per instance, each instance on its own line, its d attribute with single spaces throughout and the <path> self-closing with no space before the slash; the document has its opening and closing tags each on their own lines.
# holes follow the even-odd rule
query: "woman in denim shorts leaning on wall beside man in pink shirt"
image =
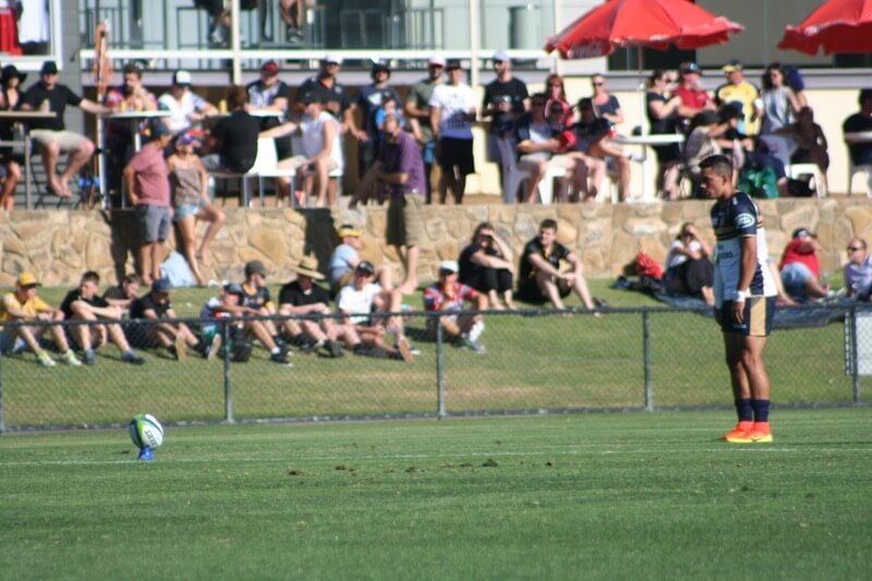
<svg viewBox="0 0 872 581">
<path fill-rule="evenodd" d="M 208 266 L 209 249 L 227 217 L 209 199 L 208 173 L 194 154 L 195 140 L 184 134 L 175 140 L 175 153 L 169 157 L 169 179 L 172 193 L 172 219 L 179 227 L 185 259 L 197 286 L 206 286 L 201 266 Z M 197 245 L 197 221 L 208 222 L 206 233 Z"/>
</svg>

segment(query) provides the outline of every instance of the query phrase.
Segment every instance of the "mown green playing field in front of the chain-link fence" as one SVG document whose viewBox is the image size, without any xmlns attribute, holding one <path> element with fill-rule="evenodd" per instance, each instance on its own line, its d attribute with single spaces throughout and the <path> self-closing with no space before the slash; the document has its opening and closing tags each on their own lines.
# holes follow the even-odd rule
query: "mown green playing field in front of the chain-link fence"
<svg viewBox="0 0 872 581">
<path fill-rule="evenodd" d="M 0 438 L 0 578 L 868 579 L 872 410 Z"/>
</svg>

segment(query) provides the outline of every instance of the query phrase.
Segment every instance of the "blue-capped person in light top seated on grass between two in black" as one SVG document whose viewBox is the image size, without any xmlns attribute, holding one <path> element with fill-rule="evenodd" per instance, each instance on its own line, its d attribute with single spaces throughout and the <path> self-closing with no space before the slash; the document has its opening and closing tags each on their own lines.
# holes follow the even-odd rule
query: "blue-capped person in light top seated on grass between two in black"
<svg viewBox="0 0 872 581">
<path fill-rule="evenodd" d="M 221 335 L 218 332 L 218 326 L 208 319 L 222 317 L 239 318 L 261 314 L 258 310 L 243 305 L 242 302 L 244 300 L 245 292 L 242 286 L 237 282 L 229 282 L 221 289 L 220 296 L 213 296 L 203 304 L 199 316 L 206 320 L 206 323 L 203 324 L 203 343 L 206 347 L 202 352 L 207 360 L 214 359 L 221 346 Z M 241 320 L 234 322 L 238 327 L 242 328 L 243 335 L 254 335 L 264 347 L 269 349 L 270 361 L 282 365 L 288 364 L 287 348 L 283 344 L 276 344 L 264 323 L 266 322 L 255 318 L 242 318 Z M 244 337 L 240 339 L 244 340 Z M 245 359 L 247 359 L 247 353 Z"/>
</svg>

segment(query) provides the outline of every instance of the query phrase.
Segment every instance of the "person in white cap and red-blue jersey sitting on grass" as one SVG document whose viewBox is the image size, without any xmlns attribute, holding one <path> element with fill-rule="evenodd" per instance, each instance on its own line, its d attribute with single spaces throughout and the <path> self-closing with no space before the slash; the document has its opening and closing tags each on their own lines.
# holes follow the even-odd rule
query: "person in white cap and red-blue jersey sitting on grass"
<svg viewBox="0 0 872 581">
<path fill-rule="evenodd" d="M 460 267 L 456 261 L 444 261 L 439 265 L 439 280 L 424 289 L 424 308 L 426 311 L 455 313 L 443 315 L 438 319 L 427 317 L 427 335 L 431 339 L 436 338 L 438 320 L 449 341 L 484 354 L 485 348 L 479 342 L 479 338 L 484 332 L 484 320 L 481 313 L 463 315 L 457 313 L 463 311 L 467 303 L 471 303 L 472 310 L 483 311 L 487 308 L 487 298 L 472 287 L 458 282 L 459 270 Z"/>
</svg>

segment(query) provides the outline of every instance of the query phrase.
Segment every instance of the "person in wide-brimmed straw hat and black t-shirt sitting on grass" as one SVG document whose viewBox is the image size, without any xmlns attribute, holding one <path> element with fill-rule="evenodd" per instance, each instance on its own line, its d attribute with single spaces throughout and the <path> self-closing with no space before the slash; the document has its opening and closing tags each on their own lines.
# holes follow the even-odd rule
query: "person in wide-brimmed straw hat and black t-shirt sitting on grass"
<svg viewBox="0 0 872 581">
<path fill-rule="evenodd" d="M 279 291 L 280 315 L 329 315 L 330 294 L 315 281 L 324 280 L 317 270 L 318 263 L 311 256 L 303 257 L 296 267 L 296 280 L 284 285 Z M 332 318 L 300 319 L 296 322 L 306 340 L 306 351 L 323 350 L 332 358 L 342 356 L 339 340 L 353 349 L 361 342 L 354 327 Z"/>
</svg>

